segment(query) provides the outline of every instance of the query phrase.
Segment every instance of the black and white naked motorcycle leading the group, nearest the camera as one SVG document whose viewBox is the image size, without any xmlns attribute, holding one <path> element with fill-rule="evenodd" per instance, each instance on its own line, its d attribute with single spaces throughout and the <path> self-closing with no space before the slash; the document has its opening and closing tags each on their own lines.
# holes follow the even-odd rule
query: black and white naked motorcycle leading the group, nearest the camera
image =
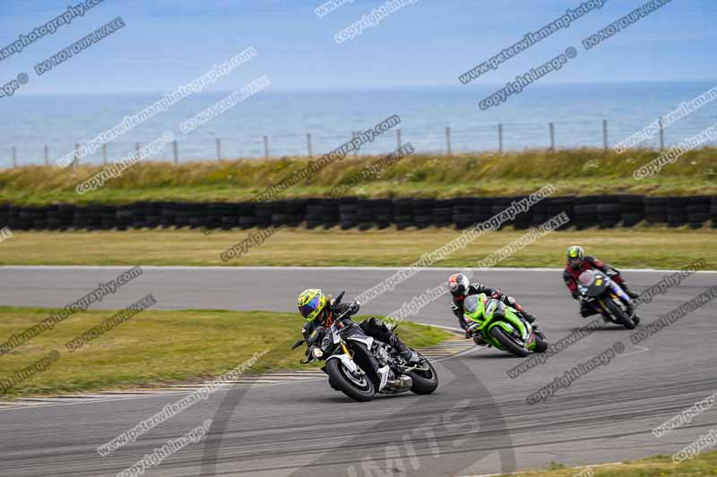
<svg viewBox="0 0 717 477">
<path fill-rule="evenodd" d="M 341 302 L 343 292 L 334 301 Z M 321 369 L 329 377 L 329 385 L 357 401 L 370 401 L 376 393 L 397 394 L 412 391 L 431 394 L 438 388 L 438 375 L 433 365 L 419 354 L 419 362 L 410 364 L 391 345 L 367 336 L 357 323 L 338 316 L 326 329 L 317 327 L 291 349 L 307 344 L 302 364 L 326 360 Z"/>
</svg>

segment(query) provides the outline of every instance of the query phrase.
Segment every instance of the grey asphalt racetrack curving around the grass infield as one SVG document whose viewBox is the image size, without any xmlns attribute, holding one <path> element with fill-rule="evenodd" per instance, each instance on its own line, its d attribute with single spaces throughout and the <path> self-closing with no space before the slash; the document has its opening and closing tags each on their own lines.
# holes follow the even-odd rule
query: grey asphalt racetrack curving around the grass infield
<svg viewBox="0 0 717 477">
<path fill-rule="evenodd" d="M 0 268 L 0 303 L 61 307 L 124 269 Z M 160 309 L 293 311 L 298 292 L 308 286 L 334 294 L 346 289 L 350 298 L 392 273 L 380 268 L 143 270 L 92 308 L 124 308 L 151 293 Z M 665 274 L 624 272 L 637 291 Z M 364 304 L 361 314 L 388 314 L 448 275 L 442 269 L 421 271 Z M 587 322 L 577 314 L 557 269 L 496 268 L 475 277 L 513 294 L 539 317 L 551 342 Z M 687 277 L 641 305 L 641 327 L 713 285 L 717 273 Z M 670 455 L 717 425 L 717 409 L 712 409 L 660 439 L 651 433 L 717 390 L 715 311 L 717 302 L 710 302 L 639 345 L 631 343 L 631 331 L 606 324 L 515 379 L 506 371 L 523 358 L 476 348 L 436 364 L 441 384 L 429 396 L 378 396 L 359 404 L 334 392 L 324 379 L 219 391 L 106 457 L 96 452 L 99 445 L 182 395 L 4 409 L 0 474 L 115 475 L 207 419 L 213 421 L 206 438 L 147 474 L 470 475 L 550 462 L 584 465 Z M 410 319 L 457 325 L 445 297 Z M 618 341 L 625 351 L 608 364 L 547 401 L 528 404 L 531 393 Z"/>
</svg>

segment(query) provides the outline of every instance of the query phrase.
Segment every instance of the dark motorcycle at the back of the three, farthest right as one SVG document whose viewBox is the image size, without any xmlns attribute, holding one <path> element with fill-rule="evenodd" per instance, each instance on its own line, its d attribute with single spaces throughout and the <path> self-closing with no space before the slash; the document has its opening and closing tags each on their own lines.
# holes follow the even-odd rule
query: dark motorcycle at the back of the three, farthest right
<svg viewBox="0 0 717 477">
<path fill-rule="evenodd" d="M 602 316 L 627 329 L 635 328 L 640 322 L 630 297 L 608 275 L 597 270 L 585 270 L 578 281 L 577 291 L 581 300 L 595 307 Z"/>
</svg>

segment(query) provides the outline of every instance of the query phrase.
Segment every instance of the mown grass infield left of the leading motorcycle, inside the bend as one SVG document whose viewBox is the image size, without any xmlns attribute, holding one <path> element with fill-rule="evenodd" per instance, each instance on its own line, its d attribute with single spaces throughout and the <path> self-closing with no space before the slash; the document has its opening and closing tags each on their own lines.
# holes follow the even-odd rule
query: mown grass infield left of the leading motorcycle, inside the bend
<svg viewBox="0 0 717 477">
<path fill-rule="evenodd" d="M 0 307 L 0 343 L 48 318 L 50 312 Z M 0 356 L 2 382 L 52 350 L 60 353 L 45 371 L 4 389 L 0 399 L 212 379 L 267 350 L 247 372 L 307 368 L 298 362 L 304 357 L 303 347 L 289 351 L 301 336 L 303 319 L 297 313 L 269 311 L 146 310 L 68 352 L 67 342 L 113 314 L 79 312 Z M 412 347 L 436 345 L 449 336 L 439 328 L 410 322 L 397 331 Z"/>
</svg>

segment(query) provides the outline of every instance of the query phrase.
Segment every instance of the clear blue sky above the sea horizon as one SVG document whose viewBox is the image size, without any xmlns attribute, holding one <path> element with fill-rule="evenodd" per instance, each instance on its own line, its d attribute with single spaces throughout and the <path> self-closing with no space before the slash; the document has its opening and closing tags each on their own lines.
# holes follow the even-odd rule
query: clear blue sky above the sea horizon
<svg viewBox="0 0 717 477">
<path fill-rule="evenodd" d="M 0 47 L 81 0 L 3 0 Z M 539 30 L 581 0 L 418 0 L 337 44 L 334 34 L 384 2 L 354 0 L 324 18 L 321 0 L 105 0 L 0 62 L 0 84 L 30 74 L 22 94 L 168 91 L 246 47 L 258 56 L 213 89 L 266 74 L 275 89 L 461 86 L 457 76 Z M 503 84 L 565 50 L 579 55 L 542 82 L 679 81 L 717 78 L 717 2 L 674 0 L 591 51 L 580 42 L 644 0 L 609 0 L 567 30 L 531 47 L 476 83 Z M 117 31 L 51 72 L 32 68 L 107 21 Z"/>
</svg>

